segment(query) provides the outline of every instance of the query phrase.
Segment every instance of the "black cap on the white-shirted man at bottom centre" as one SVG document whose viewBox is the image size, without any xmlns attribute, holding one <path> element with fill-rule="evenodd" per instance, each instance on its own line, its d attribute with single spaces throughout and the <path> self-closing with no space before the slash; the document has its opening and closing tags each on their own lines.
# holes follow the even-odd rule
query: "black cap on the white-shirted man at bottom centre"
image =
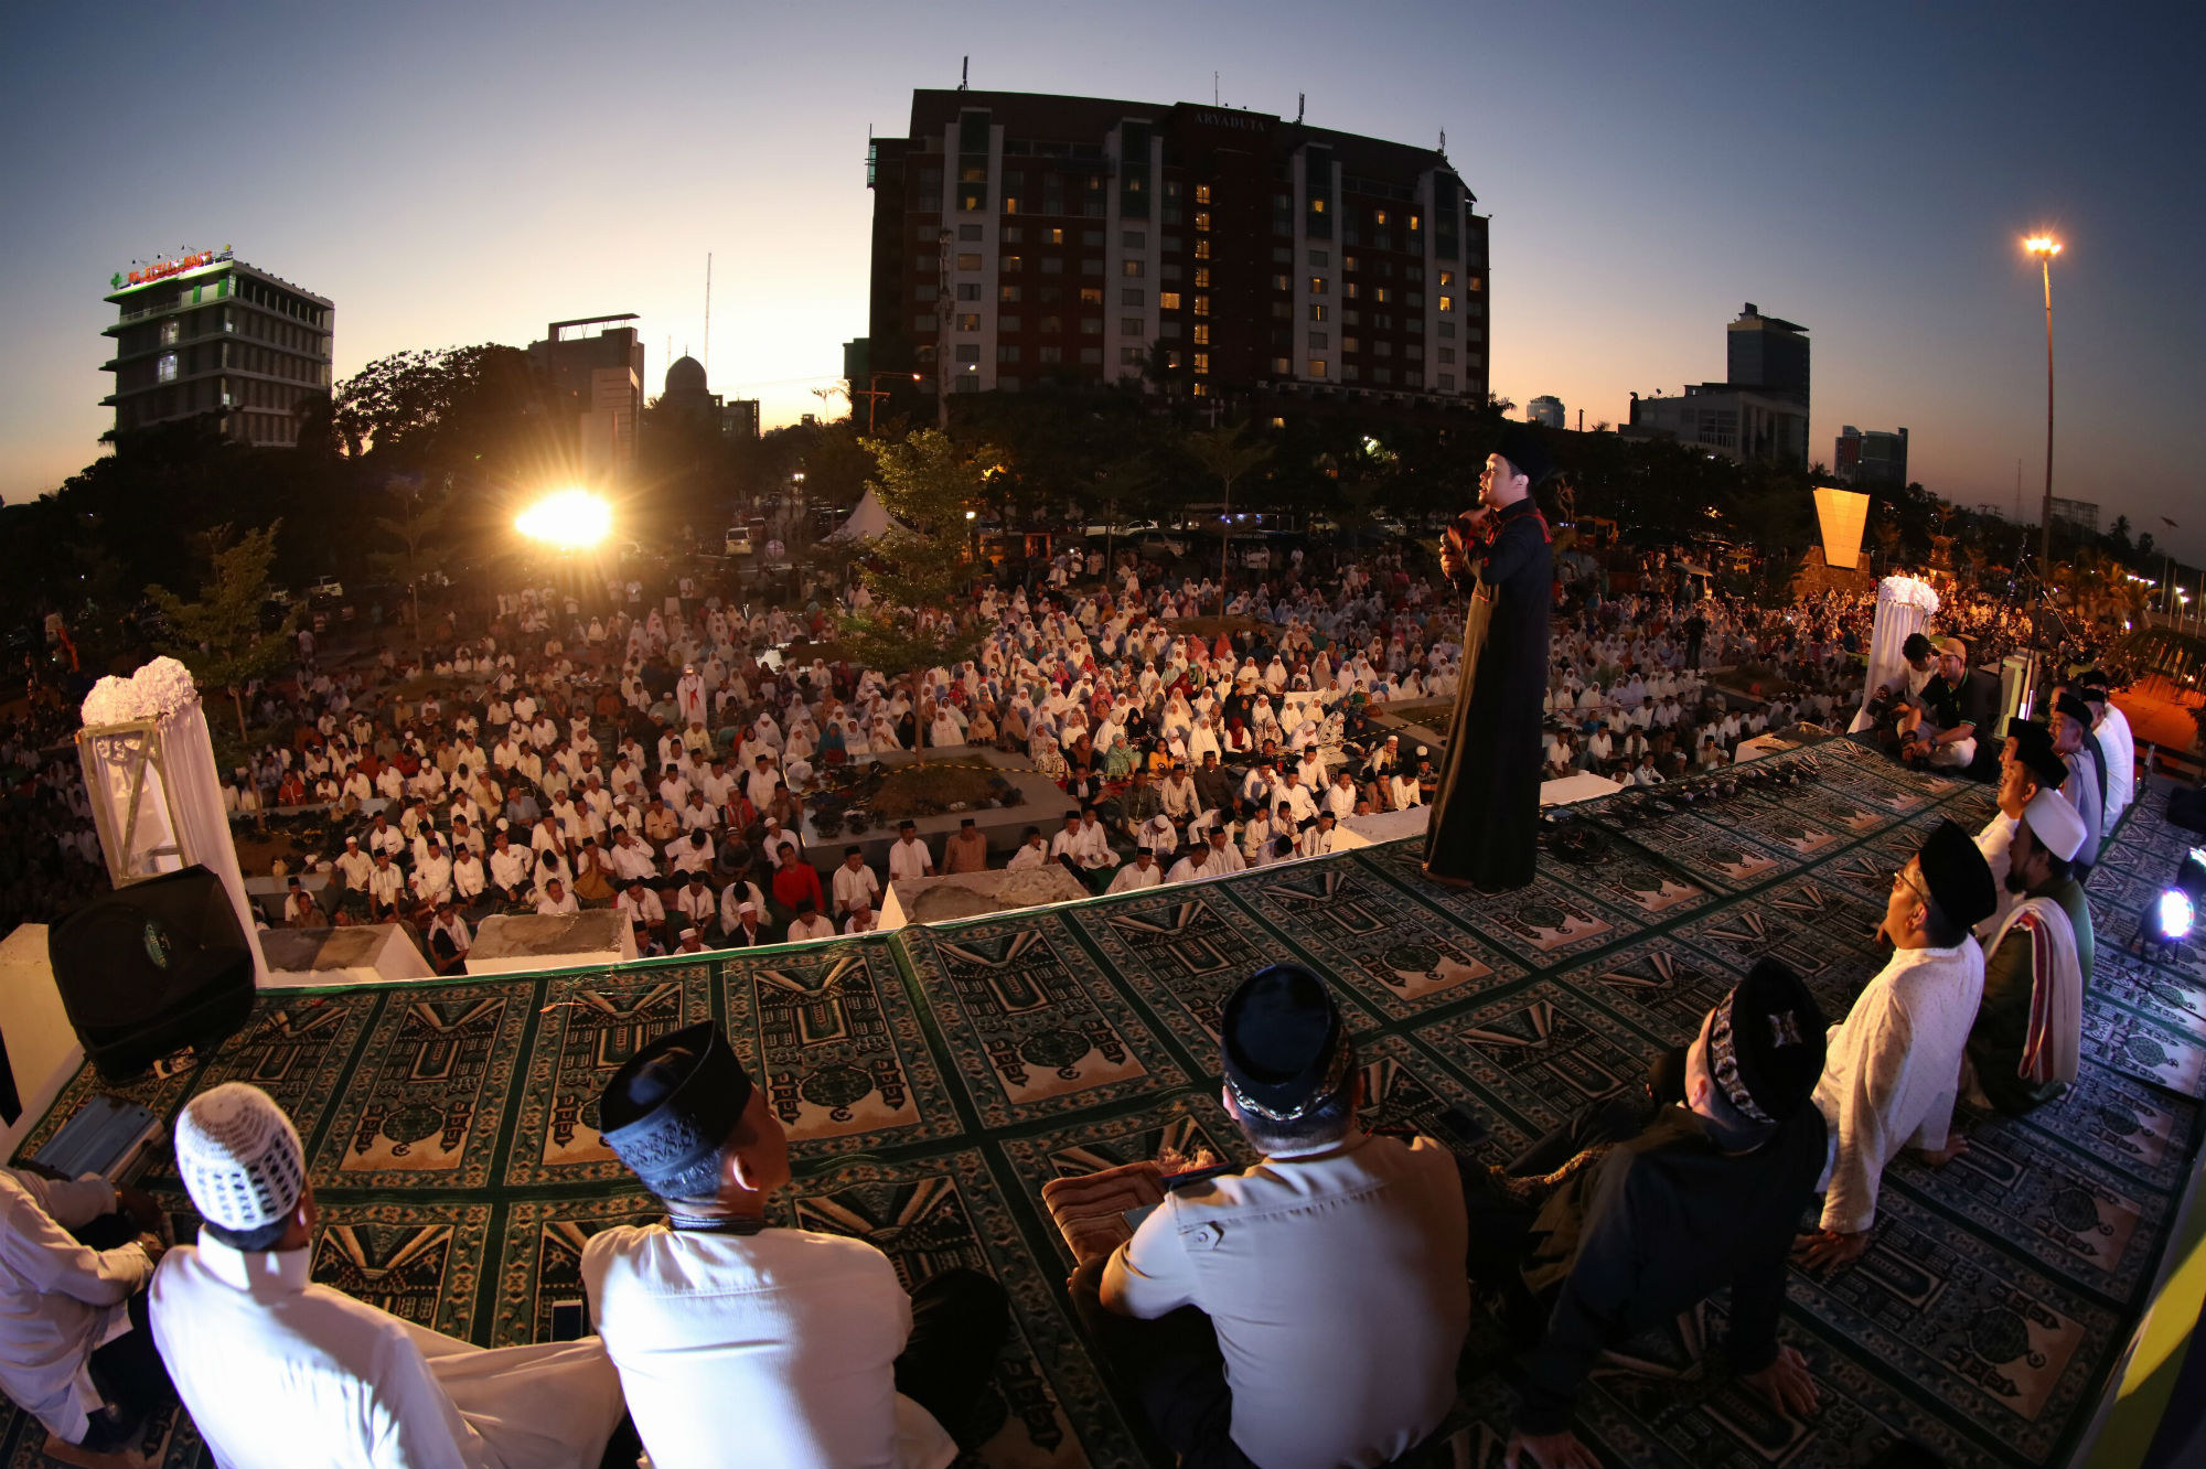
<svg viewBox="0 0 2206 1469">
<path fill-rule="evenodd" d="M 1271 964 L 1242 982 L 1218 1023 L 1233 1101 L 1271 1123 L 1324 1107 L 1348 1083 L 1354 1048 L 1326 982 Z"/>
</svg>

